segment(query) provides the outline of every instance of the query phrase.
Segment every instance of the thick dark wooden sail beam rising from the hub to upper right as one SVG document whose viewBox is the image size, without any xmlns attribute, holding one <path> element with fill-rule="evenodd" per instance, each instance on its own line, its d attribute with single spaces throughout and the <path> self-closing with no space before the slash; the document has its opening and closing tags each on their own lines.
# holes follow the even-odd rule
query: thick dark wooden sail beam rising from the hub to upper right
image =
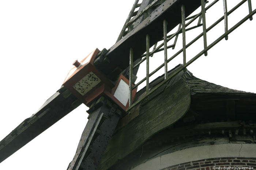
<svg viewBox="0 0 256 170">
<path fill-rule="evenodd" d="M 182 1 L 182 3 L 189 7 L 186 11 L 186 16 L 190 15 L 200 6 L 200 0 Z M 121 68 L 121 70 L 127 68 L 129 63 L 130 47 L 134 50 L 134 60 L 136 60 L 145 52 L 144 47 L 146 47 L 146 41 L 142 40 L 147 34 L 151 36 L 150 47 L 162 39 L 162 21 L 164 19 L 166 19 L 168 23 L 172 23 L 168 24 L 168 32 L 180 23 L 181 17 L 170 17 L 174 13 L 178 13 L 178 15 L 180 15 L 180 5 L 181 0 L 166 0 L 163 4 L 157 7 L 151 15 L 134 27 L 131 32 L 127 33 L 125 37 L 110 48 L 109 52 L 105 55 L 105 57 L 110 60 L 108 67 L 101 67 L 99 64 L 98 68 L 110 77 L 115 77 L 112 74 L 119 74 L 119 72 L 113 72 L 117 66 Z"/>
</svg>

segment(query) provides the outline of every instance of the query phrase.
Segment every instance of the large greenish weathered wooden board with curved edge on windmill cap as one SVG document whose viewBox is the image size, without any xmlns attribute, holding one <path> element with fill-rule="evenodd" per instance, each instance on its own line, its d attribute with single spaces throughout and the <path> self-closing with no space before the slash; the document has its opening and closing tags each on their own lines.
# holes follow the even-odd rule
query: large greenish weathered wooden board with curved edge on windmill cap
<svg viewBox="0 0 256 170">
<path fill-rule="evenodd" d="M 176 122 L 187 112 L 189 104 L 190 88 L 181 79 L 141 106 L 140 115 L 112 137 L 99 169 L 108 169 L 152 135 Z"/>
</svg>

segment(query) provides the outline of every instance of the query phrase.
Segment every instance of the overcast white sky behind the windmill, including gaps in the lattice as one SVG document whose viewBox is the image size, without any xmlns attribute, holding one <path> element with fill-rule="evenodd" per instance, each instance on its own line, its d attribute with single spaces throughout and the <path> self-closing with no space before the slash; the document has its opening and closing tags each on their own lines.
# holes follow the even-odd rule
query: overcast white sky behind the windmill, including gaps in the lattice
<svg viewBox="0 0 256 170">
<path fill-rule="evenodd" d="M 60 88 L 74 60 L 84 58 L 95 48 L 108 49 L 116 42 L 133 2 L 0 0 L 0 140 Z M 228 10 L 238 2 L 227 0 Z M 255 9 L 255 0 L 252 3 Z M 218 4 L 218 8 L 206 13 L 207 27 L 223 14 L 222 1 Z M 240 11 L 229 16 L 229 26 L 247 14 L 246 2 Z M 207 57 L 202 56 L 189 66 L 189 71 L 215 84 L 256 93 L 255 28 L 256 17 L 231 33 L 228 41 L 222 40 L 208 51 Z M 197 29 L 202 31 L 202 27 Z M 223 22 L 216 30 L 207 34 L 208 44 L 223 33 Z M 199 33 L 188 32 L 187 43 Z M 180 44 L 181 39 L 176 51 Z M 187 50 L 188 59 L 202 49 L 199 41 Z M 168 50 L 168 56 L 175 50 Z M 150 61 L 152 71 L 161 64 L 163 55 Z M 169 68 L 181 61 L 181 57 L 173 60 Z M 143 70 L 142 65 L 138 80 L 143 78 Z M 67 169 L 87 122 L 86 110 L 81 105 L 0 163 L 0 169 Z"/>
</svg>

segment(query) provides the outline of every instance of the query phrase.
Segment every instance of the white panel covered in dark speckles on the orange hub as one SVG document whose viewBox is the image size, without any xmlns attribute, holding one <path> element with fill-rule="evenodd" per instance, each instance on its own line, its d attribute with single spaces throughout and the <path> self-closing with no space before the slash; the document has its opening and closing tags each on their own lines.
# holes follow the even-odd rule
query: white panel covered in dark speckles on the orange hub
<svg viewBox="0 0 256 170">
<path fill-rule="evenodd" d="M 93 72 L 89 72 L 86 76 L 84 76 L 79 82 L 77 82 L 73 88 L 78 91 L 81 95 L 85 95 L 89 92 L 93 87 L 101 82 Z"/>
</svg>

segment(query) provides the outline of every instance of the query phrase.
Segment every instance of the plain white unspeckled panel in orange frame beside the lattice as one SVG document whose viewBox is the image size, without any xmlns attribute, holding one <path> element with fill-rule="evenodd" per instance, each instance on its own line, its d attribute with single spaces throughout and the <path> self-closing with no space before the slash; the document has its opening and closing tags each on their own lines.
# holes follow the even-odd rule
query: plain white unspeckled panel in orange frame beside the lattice
<svg viewBox="0 0 256 170">
<path fill-rule="evenodd" d="M 120 80 L 120 83 L 114 93 L 114 97 L 126 106 L 129 99 L 129 85 L 125 83 L 123 79 Z"/>
</svg>

